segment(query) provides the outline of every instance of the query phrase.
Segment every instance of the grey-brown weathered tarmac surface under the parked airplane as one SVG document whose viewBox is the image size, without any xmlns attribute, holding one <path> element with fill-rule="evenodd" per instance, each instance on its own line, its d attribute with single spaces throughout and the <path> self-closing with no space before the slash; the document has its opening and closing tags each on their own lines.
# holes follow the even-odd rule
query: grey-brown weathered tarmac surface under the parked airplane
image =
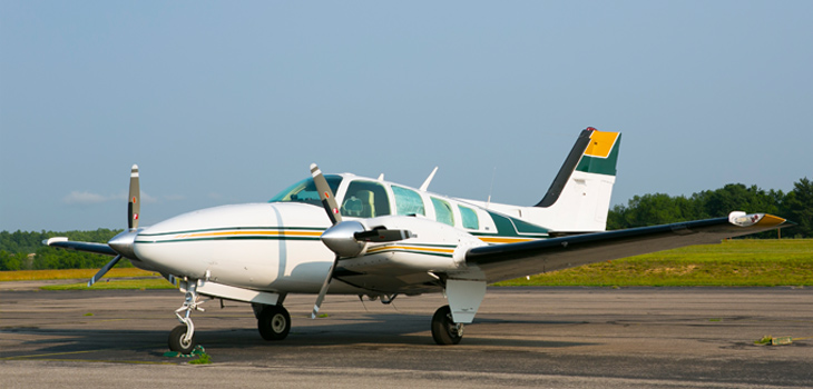
<svg viewBox="0 0 813 389">
<path fill-rule="evenodd" d="M 811 288 L 489 288 L 458 346 L 429 331 L 440 295 L 392 305 L 290 296 L 266 342 L 247 305 L 193 318 L 212 365 L 165 357 L 176 290 L 39 291 L 0 283 L 0 386 L 245 388 L 810 388 Z"/>
</svg>

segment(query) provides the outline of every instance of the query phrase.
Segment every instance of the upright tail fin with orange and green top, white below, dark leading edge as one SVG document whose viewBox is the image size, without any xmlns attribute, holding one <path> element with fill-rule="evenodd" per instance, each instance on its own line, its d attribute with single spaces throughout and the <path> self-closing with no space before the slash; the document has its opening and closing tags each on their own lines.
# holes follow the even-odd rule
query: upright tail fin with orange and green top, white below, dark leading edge
<svg viewBox="0 0 813 389">
<path fill-rule="evenodd" d="M 620 143 L 619 132 L 581 131 L 533 219 L 556 231 L 604 231 Z"/>
</svg>

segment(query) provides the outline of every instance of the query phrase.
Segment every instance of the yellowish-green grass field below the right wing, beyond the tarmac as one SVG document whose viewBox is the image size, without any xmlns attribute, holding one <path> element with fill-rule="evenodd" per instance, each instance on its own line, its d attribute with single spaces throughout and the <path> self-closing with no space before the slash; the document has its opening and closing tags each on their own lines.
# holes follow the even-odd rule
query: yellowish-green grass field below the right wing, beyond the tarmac
<svg viewBox="0 0 813 389">
<path fill-rule="evenodd" d="M 813 240 L 726 240 L 519 278 L 498 286 L 813 286 Z"/>
</svg>

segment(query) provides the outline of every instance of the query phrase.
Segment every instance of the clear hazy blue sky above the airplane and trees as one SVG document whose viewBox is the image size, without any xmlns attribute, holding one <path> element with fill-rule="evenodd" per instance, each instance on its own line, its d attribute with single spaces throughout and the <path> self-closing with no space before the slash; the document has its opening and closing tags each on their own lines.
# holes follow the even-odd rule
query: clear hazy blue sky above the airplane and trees
<svg viewBox="0 0 813 389">
<path fill-rule="evenodd" d="M 141 226 L 353 172 L 533 205 L 813 178 L 811 1 L 0 1 L 0 230 Z M 748 212 L 760 210 L 745 210 Z"/>
</svg>

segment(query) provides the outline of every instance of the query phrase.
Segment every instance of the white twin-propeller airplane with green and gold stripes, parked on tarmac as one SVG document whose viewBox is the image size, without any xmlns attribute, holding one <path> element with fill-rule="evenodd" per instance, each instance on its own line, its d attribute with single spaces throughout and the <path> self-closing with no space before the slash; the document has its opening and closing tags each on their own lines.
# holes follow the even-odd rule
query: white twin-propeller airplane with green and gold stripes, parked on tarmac
<svg viewBox="0 0 813 389">
<path fill-rule="evenodd" d="M 356 295 L 392 302 L 442 292 L 432 316 L 438 345 L 457 345 L 490 283 L 782 228 L 766 213 L 606 231 L 620 133 L 582 130 L 542 199 L 531 207 L 452 198 L 351 173 L 311 177 L 268 202 L 229 205 L 139 227 L 139 171 L 133 166 L 127 229 L 107 243 L 50 238 L 45 245 L 112 256 L 88 286 L 120 259 L 159 272 L 185 295 L 169 349 L 197 345 L 193 311 L 205 300 L 251 303 L 263 339 L 284 339 L 290 293 Z"/>
</svg>

